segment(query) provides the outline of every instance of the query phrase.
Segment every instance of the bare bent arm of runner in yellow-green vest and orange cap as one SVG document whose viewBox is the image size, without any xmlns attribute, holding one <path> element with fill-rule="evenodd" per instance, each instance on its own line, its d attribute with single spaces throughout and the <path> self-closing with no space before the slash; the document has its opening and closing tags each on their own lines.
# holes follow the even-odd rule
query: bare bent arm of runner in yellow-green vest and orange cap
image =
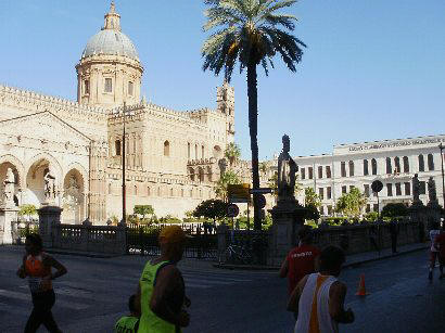
<svg viewBox="0 0 445 333">
<path fill-rule="evenodd" d="M 156 285 L 153 289 L 153 294 L 150 299 L 150 309 L 160 318 L 179 326 L 187 326 L 189 318 L 186 311 L 175 313 L 167 302 L 167 295 L 174 293 L 177 284 L 181 281 L 179 270 L 168 265 L 164 267 L 157 274 Z"/>
</svg>

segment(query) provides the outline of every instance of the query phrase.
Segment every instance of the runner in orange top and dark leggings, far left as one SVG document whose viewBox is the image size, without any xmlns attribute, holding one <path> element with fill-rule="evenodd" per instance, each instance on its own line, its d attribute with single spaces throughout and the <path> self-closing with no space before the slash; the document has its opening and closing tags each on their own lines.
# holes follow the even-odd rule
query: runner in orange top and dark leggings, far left
<svg viewBox="0 0 445 333">
<path fill-rule="evenodd" d="M 28 278 L 33 298 L 33 311 L 26 322 L 25 333 L 35 333 L 43 324 L 50 333 L 62 332 L 54 321 L 51 308 L 55 303 L 52 280 L 66 274 L 66 268 L 53 257 L 43 252 L 40 235 L 28 234 L 25 241 L 26 255 L 23 265 L 17 270 L 21 279 Z M 55 268 L 55 272 L 52 272 Z"/>
</svg>

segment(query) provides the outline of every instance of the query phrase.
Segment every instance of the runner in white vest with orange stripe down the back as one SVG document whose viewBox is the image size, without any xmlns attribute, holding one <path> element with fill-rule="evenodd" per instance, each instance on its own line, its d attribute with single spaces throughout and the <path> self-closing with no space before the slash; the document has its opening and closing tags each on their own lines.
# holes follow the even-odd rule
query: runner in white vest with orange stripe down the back
<svg viewBox="0 0 445 333">
<path fill-rule="evenodd" d="M 354 322 L 354 312 L 344 309 L 346 285 L 340 276 L 345 255 L 328 246 L 319 257 L 320 272 L 304 277 L 293 290 L 288 310 L 297 313 L 294 333 L 339 332 L 339 323 Z"/>
</svg>

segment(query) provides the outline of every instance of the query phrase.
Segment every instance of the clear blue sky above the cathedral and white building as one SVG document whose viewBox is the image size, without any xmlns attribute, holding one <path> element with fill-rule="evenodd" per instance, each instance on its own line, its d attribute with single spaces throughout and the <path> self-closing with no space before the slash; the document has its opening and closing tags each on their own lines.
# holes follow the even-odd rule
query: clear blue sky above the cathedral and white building
<svg viewBox="0 0 445 333">
<path fill-rule="evenodd" d="M 0 82 L 75 100 L 75 64 L 103 25 L 105 0 L 0 0 Z M 143 91 L 177 110 L 216 106 L 203 73 L 199 0 L 117 0 L 145 68 Z M 332 145 L 445 133 L 444 0 L 302 0 L 290 11 L 308 44 L 296 74 L 258 80 L 259 156 L 291 137 L 294 155 Z M 277 59 L 276 64 L 280 64 Z M 250 157 L 245 74 L 234 74 L 237 141 Z"/>
</svg>

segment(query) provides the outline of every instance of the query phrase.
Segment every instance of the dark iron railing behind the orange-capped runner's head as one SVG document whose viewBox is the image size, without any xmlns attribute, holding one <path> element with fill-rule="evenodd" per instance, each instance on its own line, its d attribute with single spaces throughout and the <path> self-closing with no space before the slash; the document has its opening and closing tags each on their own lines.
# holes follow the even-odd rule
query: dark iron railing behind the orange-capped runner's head
<svg viewBox="0 0 445 333">
<path fill-rule="evenodd" d="M 158 234 L 166 226 L 168 225 L 156 227 L 127 225 L 127 253 L 149 256 L 160 255 Z M 211 260 L 217 258 L 218 239 L 216 233 L 204 232 L 198 227 L 188 229 L 182 226 L 182 229 L 189 234 L 183 257 Z"/>
</svg>

